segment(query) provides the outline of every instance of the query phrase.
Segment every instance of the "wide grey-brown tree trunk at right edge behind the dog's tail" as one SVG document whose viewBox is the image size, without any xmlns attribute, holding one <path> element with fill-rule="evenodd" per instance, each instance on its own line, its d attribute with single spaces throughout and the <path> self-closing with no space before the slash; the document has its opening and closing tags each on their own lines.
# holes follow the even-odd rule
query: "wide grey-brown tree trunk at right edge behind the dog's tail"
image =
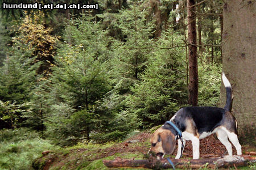
<svg viewBox="0 0 256 170">
<path fill-rule="evenodd" d="M 238 121 L 240 139 L 250 143 L 255 140 L 256 134 L 255 9 L 253 1 L 224 1 L 222 70 L 232 84 L 232 112 Z M 222 86 L 222 106 L 225 100 L 226 92 Z"/>
</svg>

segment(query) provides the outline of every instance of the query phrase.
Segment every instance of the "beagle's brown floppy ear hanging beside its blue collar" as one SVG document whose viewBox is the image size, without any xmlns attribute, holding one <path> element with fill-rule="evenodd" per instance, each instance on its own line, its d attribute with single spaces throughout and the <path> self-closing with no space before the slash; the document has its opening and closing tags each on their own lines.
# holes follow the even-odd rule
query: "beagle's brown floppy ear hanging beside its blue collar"
<svg viewBox="0 0 256 170">
<path fill-rule="evenodd" d="M 175 149 L 175 136 L 170 131 L 165 130 L 162 133 L 159 133 L 159 136 L 162 141 L 162 147 L 166 154 L 172 154 Z"/>
</svg>

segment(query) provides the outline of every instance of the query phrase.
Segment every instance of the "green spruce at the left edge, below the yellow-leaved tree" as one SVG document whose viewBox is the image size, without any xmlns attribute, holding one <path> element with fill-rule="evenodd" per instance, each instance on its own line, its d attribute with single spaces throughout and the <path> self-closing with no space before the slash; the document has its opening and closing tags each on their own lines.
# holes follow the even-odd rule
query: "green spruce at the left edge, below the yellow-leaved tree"
<svg viewBox="0 0 256 170">
<path fill-rule="evenodd" d="M 0 117 L 13 128 L 23 121 L 22 113 L 28 109 L 24 103 L 30 100 L 36 82 L 38 65 L 31 65 L 32 51 L 24 50 L 25 46 L 15 43 L 0 69 Z"/>
</svg>

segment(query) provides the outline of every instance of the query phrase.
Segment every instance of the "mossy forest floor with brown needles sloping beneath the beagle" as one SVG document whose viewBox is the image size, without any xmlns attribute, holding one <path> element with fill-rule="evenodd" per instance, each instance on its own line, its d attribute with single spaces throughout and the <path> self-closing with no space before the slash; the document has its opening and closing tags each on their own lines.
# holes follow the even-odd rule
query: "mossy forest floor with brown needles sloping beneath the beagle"
<svg viewBox="0 0 256 170">
<path fill-rule="evenodd" d="M 36 169 L 109 169 L 104 166 L 102 160 L 146 159 L 144 156 L 150 148 L 150 136 L 151 132 L 148 130 L 138 132 L 123 142 L 105 145 L 80 144 L 62 150 L 47 151 L 41 158 L 35 160 L 33 167 Z M 242 146 L 242 151 L 243 154 L 255 152 L 255 147 Z M 176 152 L 177 148 L 174 153 L 176 154 Z M 236 154 L 234 147 L 233 153 Z M 171 158 L 174 158 L 175 154 L 171 155 Z M 227 154 L 225 146 L 214 135 L 200 141 L 200 158 L 217 158 Z M 166 157 L 168 156 L 170 155 Z M 191 141 L 186 142 L 183 158 L 192 158 Z M 255 166 L 254 163 L 243 169 L 256 169 Z"/>
</svg>

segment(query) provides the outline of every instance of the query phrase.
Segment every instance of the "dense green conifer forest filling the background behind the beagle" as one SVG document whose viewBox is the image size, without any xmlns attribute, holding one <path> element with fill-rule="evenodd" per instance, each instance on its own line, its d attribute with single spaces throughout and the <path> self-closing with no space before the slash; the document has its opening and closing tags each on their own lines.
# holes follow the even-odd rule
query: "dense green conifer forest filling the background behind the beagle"
<svg viewBox="0 0 256 170">
<path fill-rule="evenodd" d="M 51 3 L 26 1 L 34 2 Z M 134 130 L 161 125 L 189 105 L 187 2 L 87 3 L 98 3 L 98 10 L 1 8 L 2 145 L 24 139 L 58 146 L 117 141 Z M 197 105 L 224 107 L 226 3 L 196 3 Z M 254 2 L 245 5 L 255 9 Z M 232 70 L 226 68 L 229 78 Z M 246 102 L 241 105 L 255 110 L 255 99 Z M 243 117 L 238 120 L 241 143 L 255 146 L 254 111 L 237 114 Z"/>
</svg>

